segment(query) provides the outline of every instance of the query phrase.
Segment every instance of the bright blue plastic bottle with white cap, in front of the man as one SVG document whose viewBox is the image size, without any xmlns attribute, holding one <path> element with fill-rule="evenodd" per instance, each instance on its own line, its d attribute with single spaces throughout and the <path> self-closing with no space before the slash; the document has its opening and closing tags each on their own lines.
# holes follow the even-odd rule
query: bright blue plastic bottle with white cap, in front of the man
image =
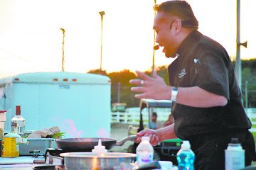
<svg viewBox="0 0 256 170">
<path fill-rule="evenodd" d="M 181 149 L 177 153 L 177 162 L 179 170 L 193 170 L 195 161 L 195 154 L 191 150 L 191 145 L 188 140 L 183 140 Z"/>
</svg>

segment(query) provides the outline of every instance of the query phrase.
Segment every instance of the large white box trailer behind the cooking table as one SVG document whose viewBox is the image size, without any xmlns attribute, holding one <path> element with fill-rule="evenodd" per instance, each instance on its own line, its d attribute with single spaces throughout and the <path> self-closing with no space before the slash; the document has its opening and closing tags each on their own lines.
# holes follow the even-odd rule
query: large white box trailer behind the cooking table
<svg viewBox="0 0 256 170">
<path fill-rule="evenodd" d="M 7 110 L 5 132 L 17 105 L 25 131 L 58 126 L 65 137 L 109 137 L 110 78 L 98 74 L 36 72 L 0 79 L 0 109 Z"/>
</svg>

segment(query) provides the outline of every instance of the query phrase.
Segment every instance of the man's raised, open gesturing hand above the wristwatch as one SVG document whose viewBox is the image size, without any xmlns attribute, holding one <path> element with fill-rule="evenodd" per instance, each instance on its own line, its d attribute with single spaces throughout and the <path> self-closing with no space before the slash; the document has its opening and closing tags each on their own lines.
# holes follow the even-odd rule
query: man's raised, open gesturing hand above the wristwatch
<svg viewBox="0 0 256 170">
<path fill-rule="evenodd" d="M 130 84 L 139 85 L 137 87 L 132 87 L 131 90 L 134 92 L 142 93 L 136 94 L 136 98 L 151 98 L 151 99 L 167 99 L 171 98 L 171 86 L 167 86 L 164 82 L 164 79 L 159 77 L 156 74 L 156 71 L 153 72 L 153 77 L 149 77 L 148 75 L 136 71 L 141 79 L 132 79 L 129 81 Z"/>
</svg>

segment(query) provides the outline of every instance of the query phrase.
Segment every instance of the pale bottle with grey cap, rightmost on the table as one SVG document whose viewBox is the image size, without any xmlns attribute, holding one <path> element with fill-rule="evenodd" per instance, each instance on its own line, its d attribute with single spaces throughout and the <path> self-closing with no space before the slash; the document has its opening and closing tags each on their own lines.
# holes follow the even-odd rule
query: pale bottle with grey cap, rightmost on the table
<svg viewBox="0 0 256 170">
<path fill-rule="evenodd" d="M 232 138 L 225 149 L 225 170 L 236 170 L 245 167 L 245 150 L 242 149 L 238 138 Z"/>
</svg>

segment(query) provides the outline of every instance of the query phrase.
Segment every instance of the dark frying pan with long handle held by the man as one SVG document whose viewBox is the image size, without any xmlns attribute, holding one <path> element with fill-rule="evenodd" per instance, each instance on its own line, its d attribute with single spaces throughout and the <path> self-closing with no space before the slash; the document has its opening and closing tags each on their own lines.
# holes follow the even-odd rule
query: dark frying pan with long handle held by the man
<svg viewBox="0 0 256 170">
<path fill-rule="evenodd" d="M 98 145 L 99 140 L 106 149 L 111 149 L 114 146 L 122 146 L 127 141 L 134 141 L 137 135 L 131 135 L 122 138 L 122 140 L 115 140 L 113 138 L 100 137 L 80 137 L 80 138 L 65 138 L 56 140 L 58 148 L 68 152 L 92 152 L 95 146 Z"/>
</svg>

